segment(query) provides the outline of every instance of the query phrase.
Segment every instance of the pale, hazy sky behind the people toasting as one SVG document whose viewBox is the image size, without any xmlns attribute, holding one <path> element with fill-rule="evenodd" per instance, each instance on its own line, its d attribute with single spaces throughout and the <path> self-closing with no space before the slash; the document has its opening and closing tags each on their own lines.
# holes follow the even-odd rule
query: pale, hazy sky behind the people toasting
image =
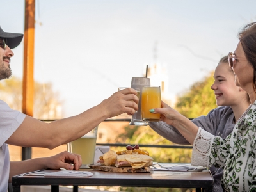
<svg viewBox="0 0 256 192">
<path fill-rule="evenodd" d="M 1 2 L 4 31 L 24 33 L 24 2 Z M 36 0 L 34 79 L 53 84 L 64 117 L 130 86 L 154 63 L 166 66 L 174 99 L 236 49 L 255 7 L 255 0 Z M 20 79 L 23 44 L 10 63 Z"/>
</svg>

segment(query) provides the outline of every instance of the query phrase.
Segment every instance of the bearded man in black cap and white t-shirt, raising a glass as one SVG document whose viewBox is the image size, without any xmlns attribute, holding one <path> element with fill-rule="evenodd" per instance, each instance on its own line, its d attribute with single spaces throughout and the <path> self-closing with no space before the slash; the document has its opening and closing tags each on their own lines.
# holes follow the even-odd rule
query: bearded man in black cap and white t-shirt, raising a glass
<svg viewBox="0 0 256 192">
<path fill-rule="evenodd" d="M 22 38 L 23 34 L 7 33 L 0 27 L 0 80 L 12 76 L 11 49 L 17 47 Z M 122 113 L 134 114 L 138 110 L 136 94 L 135 90 L 127 88 L 114 93 L 99 105 L 79 115 L 56 120 L 50 124 L 10 109 L 3 100 L 0 100 L 0 191 L 7 191 L 8 181 L 12 181 L 13 175 L 44 168 L 78 170 L 81 166 L 81 156 L 68 152 L 47 158 L 10 162 L 7 144 L 52 149 L 74 141 L 106 118 Z"/>
</svg>

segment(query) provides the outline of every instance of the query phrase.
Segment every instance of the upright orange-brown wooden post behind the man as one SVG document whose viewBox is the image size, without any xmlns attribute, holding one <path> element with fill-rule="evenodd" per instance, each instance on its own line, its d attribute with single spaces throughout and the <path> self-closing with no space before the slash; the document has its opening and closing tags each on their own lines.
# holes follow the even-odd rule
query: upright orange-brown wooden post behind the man
<svg viewBox="0 0 256 192">
<path fill-rule="evenodd" d="M 25 0 L 22 112 L 33 116 L 35 0 Z M 22 160 L 31 159 L 31 147 L 22 147 Z"/>
</svg>

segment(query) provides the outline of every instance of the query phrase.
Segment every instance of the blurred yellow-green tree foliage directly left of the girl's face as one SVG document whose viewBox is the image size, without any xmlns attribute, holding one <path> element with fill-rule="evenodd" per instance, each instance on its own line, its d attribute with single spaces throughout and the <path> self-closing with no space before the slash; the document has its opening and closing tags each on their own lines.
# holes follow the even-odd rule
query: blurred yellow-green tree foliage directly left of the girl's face
<svg viewBox="0 0 256 192">
<path fill-rule="evenodd" d="M 177 98 L 175 109 L 188 118 L 207 115 L 211 109 L 216 108 L 216 99 L 211 90 L 214 83 L 214 72 L 194 83 L 191 88 Z"/>
</svg>

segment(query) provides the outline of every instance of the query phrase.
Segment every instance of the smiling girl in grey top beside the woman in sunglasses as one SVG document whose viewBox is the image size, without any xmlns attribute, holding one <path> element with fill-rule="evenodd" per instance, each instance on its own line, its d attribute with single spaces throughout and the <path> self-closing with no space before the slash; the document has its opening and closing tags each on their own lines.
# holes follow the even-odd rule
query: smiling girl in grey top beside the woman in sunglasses
<svg viewBox="0 0 256 192">
<path fill-rule="evenodd" d="M 207 116 L 194 118 L 192 120 L 194 124 L 221 138 L 226 138 L 232 132 L 236 121 L 250 106 L 248 93 L 236 86 L 234 81 L 234 72 L 228 65 L 228 56 L 224 56 L 215 69 L 214 83 L 211 86 L 216 95 L 216 104 L 220 107 L 212 109 Z M 175 127 L 165 122 L 148 122 L 148 125 L 173 143 L 189 144 Z M 223 191 L 221 187 L 223 169 L 212 166 L 211 173 L 214 177 L 213 191 Z"/>
</svg>

